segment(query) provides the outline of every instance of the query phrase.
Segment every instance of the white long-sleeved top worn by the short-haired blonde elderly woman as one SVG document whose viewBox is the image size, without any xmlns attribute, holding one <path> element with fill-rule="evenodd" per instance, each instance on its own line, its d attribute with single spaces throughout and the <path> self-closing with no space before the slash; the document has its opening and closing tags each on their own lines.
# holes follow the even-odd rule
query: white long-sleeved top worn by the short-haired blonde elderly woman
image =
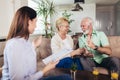
<svg viewBox="0 0 120 80">
<path fill-rule="evenodd" d="M 51 49 L 52 53 L 59 53 L 64 49 L 72 50 L 73 39 L 70 35 L 66 35 L 66 38 L 62 40 L 59 34 L 57 33 L 51 39 Z"/>
</svg>

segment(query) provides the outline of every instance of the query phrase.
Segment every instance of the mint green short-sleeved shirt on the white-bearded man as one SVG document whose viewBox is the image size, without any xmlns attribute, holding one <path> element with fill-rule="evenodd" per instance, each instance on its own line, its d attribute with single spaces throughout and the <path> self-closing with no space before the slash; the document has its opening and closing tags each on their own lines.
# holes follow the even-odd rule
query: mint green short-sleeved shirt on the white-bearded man
<svg viewBox="0 0 120 80">
<path fill-rule="evenodd" d="M 109 46 L 108 38 L 107 38 L 107 36 L 105 35 L 105 33 L 102 32 L 102 31 L 95 31 L 95 30 L 93 30 L 91 39 L 92 39 L 92 42 L 93 42 L 95 45 L 97 45 L 97 46 L 100 46 L 100 47 Z M 94 49 L 88 47 L 88 44 L 87 44 L 87 35 L 85 35 L 85 34 L 83 34 L 83 35 L 79 38 L 79 47 L 80 47 L 80 48 L 86 48 L 90 53 L 93 53 L 93 54 L 94 54 L 93 59 L 94 59 L 97 63 L 99 63 L 99 64 L 102 62 L 102 60 L 103 60 L 104 58 L 108 57 L 108 55 L 102 54 L 102 53 L 100 53 L 99 51 L 94 50 Z"/>
</svg>

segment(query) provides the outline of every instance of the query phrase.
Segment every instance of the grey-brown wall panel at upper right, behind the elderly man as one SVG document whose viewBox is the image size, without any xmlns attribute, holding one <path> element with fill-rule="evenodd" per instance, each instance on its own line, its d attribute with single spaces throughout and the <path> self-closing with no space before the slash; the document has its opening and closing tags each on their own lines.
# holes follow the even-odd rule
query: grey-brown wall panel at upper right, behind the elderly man
<svg viewBox="0 0 120 80">
<path fill-rule="evenodd" d="M 97 30 L 105 32 L 106 35 L 115 35 L 115 7 L 114 5 L 96 6 Z"/>
</svg>

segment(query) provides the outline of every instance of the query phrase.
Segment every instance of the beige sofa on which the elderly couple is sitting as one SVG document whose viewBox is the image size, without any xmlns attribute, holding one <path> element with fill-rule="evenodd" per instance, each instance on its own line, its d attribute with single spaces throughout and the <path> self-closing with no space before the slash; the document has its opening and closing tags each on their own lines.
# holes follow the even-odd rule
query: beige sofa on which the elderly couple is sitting
<svg viewBox="0 0 120 80">
<path fill-rule="evenodd" d="M 33 39 L 35 39 L 38 36 L 39 35 L 31 36 L 30 40 L 32 41 Z M 75 47 L 77 46 L 77 38 L 73 37 Z M 119 49 L 120 48 L 120 36 L 108 36 L 108 39 L 109 39 L 110 46 L 111 46 L 112 53 L 113 53 L 111 56 L 120 58 L 120 49 Z M 42 62 L 42 59 L 44 59 L 52 54 L 51 47 L 50 47 L 50 43 L 51 43 L 50 40 L 51 40 L 50 38 L 43 38 L 41 45 L 36 48 L 38 70 L 42 70 L 43 67 L 45 66 L 45 64 Z M 5 47 L 5 41 L 0 42 L 0 67 L 2 67 L 2 65 L 3 65 L 4 47 Z M 101 67 L 99 67 L 98 69 L 99 69 L 100 73 L 108 74 L 108 71 L 106 69 L 101 68 Z M 2 71 L 2 69 L 0 68 L 0 77 L 1 77 L 1 71 Z M 56 75 L 56 71 L 51 70 L 46 75 Z"/>
</svg>

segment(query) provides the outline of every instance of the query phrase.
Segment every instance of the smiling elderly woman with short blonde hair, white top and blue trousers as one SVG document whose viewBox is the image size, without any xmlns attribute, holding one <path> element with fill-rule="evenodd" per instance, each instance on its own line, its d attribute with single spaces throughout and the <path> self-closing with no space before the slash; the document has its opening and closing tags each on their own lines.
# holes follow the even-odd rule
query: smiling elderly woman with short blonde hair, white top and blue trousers
<svg viewBox="0 0 120 80">
<path fill-rule="evenodd" d="M 56 67 L 60 68 L 71 68 L 73 63 L 77 64 L 77 69 L 82 70 L 82 66 L 79 58 L 72 58 L 74 55 L 80 55 L 84 49 L 73 50 L 73 39 L 68 35 L 69 23 L 66 18 L 59 18 L 56 21 L 56 28 L 58 33 L 56 33 L 51 40 L 51 48 L 53 54 L 60 54 L 64 50 L 68 50 L 68 55 L 64 56 Z"/>
</svg>

